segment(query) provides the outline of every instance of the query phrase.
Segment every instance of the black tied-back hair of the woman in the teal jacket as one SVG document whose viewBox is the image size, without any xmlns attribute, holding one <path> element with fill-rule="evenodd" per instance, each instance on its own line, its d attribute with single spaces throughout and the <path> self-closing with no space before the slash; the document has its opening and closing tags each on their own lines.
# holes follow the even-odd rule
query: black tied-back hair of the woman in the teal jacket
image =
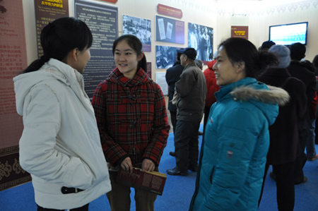
<svg viewBox="0 0 318 211">
<path fill-rule="evenodd" d="M 278 64 L 278 59 L 274 54 L 267 51 L 257 51 L 252 42 L 243 38 L 228 38 L 219 47 L 225 49 L 232 64 L 245 62 L 247 77 L 255 78 L 267 66 Z"/>
</svg>

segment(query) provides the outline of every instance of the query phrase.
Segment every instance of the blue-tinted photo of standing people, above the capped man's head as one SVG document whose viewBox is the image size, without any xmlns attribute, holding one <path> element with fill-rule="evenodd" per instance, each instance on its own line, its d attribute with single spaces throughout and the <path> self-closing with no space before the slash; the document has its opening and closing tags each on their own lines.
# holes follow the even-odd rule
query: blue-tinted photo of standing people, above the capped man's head
<svg viewBox="0 0 318 211">
<path fill-rule="evenodd" d="M 188 25 L 188 46 L 196 49 L 196 59 L 213 59 L 213 28 L 195 23 Z"/>
</svg>

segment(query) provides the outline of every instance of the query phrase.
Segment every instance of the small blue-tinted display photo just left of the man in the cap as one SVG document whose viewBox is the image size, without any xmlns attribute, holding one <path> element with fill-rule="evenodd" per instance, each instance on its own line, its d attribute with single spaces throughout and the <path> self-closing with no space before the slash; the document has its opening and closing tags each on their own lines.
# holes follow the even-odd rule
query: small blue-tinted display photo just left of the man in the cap
<svg viewBox="0 0 318 211">
<path fill-rule="evenodd" d="M 177 47 L 155 46 L 155 68 L 170 68 L 177 61 Z"/>
</svg>

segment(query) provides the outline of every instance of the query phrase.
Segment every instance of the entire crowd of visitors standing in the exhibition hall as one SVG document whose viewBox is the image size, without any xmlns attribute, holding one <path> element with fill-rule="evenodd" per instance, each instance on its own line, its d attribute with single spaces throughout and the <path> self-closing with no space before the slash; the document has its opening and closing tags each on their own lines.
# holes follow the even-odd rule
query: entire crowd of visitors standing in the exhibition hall
<svg viewBox="0 0 318 211">
<path fill-rule="evenodd" d="M 176 162 L 166 172 L 197 172 L 189 210 L 257 210 L 269 165 L 278 210 L 293 210 L 295 185 L 307 181 L 302 169 L 318 159 L 318 55 L 305 60 L 304 44 L 266 41 L 257 49 L 228 38 L 204 71 L 202 52 L 177 49 L 165 75 L 166 108 L 135 35 L 114 40 L 116 68 L 91 102 L 83 87 L 93 42 L 86 23 L 58 18 L 40 37 L 44 55 L 13 78 L 24 126 L 20 165 L 32 176 L 37 210 L 87 211 L 105 194 L 111 210 L 129 210 L 131 186 L 119 172 L 158 175 L 167 110 Z M 136 210 L 155 210 L 157 194 L 133 188 Z"/>
</svg>

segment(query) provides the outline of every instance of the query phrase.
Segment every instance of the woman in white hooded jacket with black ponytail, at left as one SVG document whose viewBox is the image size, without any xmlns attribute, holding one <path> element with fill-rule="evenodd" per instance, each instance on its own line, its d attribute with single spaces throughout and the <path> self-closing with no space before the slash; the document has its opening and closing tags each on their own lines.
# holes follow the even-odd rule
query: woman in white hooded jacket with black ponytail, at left
<svg viewBox="0 0 318 211">
<path fill-rule="evenodd" d="M 32 177 L 37 210 L 87 211 L 111 190 L 83 71 L 93 36 L 81 20 L 59 18 L 43 28 L 43 56 L 13 78 L 23 115 L 20 166 Z"/>
</svg>

